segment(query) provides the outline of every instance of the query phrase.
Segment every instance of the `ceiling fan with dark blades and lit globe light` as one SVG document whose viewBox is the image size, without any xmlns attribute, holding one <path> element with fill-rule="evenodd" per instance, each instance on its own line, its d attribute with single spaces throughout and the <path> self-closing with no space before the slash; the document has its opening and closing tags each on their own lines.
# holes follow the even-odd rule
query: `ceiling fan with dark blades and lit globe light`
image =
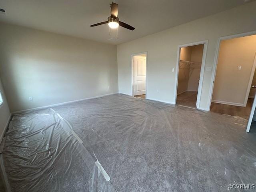
<svg viewBox="0 0 256 192">
<path fill-rule="evenodd" d="M 116 3 L 112 3 L 110 4 L 110 17 L 108 17 L 108 21 L 104 21 L 104 22 L 100 22 L 100 23 L 96 23 L 94 25 L 90 25 L 90 27 L 94 27 L 94 26 L 98 26 L 98 25 L 103 25 L 108 23 L 108 26 L 112 29 L 116 29 L 118 28 L 118 26 L 120 25 L 121 27 L 124 27 L 126 29 L 130 29 L 130 30 L 134 30 L 135 28 L 122 22 L 119 21 L 119 18 L 117 17 L 118 14 L 118 4 Z"/>
</svg>

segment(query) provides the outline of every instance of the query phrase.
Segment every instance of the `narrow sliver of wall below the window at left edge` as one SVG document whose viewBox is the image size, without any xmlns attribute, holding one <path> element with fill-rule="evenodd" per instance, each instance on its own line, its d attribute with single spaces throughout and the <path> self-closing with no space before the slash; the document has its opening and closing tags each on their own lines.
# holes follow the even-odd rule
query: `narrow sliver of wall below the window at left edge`
<svg viewBox="0 0 256 192">
<path fill-rule="evenodd" d="M 2 138 L 4 136 L 4 128 L 6 127 L 8 119 L 10 117 L 10 109 L 4 94 L 4 89 L 2 87 L 1 80 L 0 80 L 0 92 L 4 101 L 2 105 L 0 105 L 0 143 L 1 143 Z"/>
</svg>

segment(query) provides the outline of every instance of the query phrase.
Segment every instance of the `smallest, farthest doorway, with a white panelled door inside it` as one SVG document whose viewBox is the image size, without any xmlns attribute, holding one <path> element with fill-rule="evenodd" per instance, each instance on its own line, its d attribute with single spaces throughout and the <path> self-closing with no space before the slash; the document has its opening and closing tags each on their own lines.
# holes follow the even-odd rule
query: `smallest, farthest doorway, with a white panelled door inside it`
<svg viewBox="0 0 256 192">
<path fill-rule="evenodd" d="M 132 95 L 146 99 L 147 53 L 132 55 Z"/>
</svg>

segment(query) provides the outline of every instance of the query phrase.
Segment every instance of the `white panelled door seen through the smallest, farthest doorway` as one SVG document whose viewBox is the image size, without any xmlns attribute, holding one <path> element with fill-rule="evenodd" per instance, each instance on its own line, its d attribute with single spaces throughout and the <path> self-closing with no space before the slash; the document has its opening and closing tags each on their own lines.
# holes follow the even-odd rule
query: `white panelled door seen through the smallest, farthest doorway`
<svg viewBox="0 0 256 192">
<path fill-rule="evenodd" d="M 134 95 L 146 94 L 146 57 L 134 56 Z"/>
</svg>

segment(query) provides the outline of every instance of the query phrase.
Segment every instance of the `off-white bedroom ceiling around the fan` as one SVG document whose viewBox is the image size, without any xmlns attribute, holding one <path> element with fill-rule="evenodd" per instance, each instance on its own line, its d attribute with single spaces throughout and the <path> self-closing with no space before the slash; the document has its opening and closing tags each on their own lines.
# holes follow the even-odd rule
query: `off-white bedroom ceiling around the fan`
<svg viewBox="0 0 256 192">
<path fill-rule="evenodd" d="M 119 27 L 119 39 L 110 39 L 107 24 L 90 27 L 107 20 L 111 2 L 118 3 L 118 18 L 135 27 L 134 31 Z M 0 14 L 0 22 L 121 44 L 245 2 L 248 0 L 1 0 L 0 8 L 6 14 Z"/>
</svg>

